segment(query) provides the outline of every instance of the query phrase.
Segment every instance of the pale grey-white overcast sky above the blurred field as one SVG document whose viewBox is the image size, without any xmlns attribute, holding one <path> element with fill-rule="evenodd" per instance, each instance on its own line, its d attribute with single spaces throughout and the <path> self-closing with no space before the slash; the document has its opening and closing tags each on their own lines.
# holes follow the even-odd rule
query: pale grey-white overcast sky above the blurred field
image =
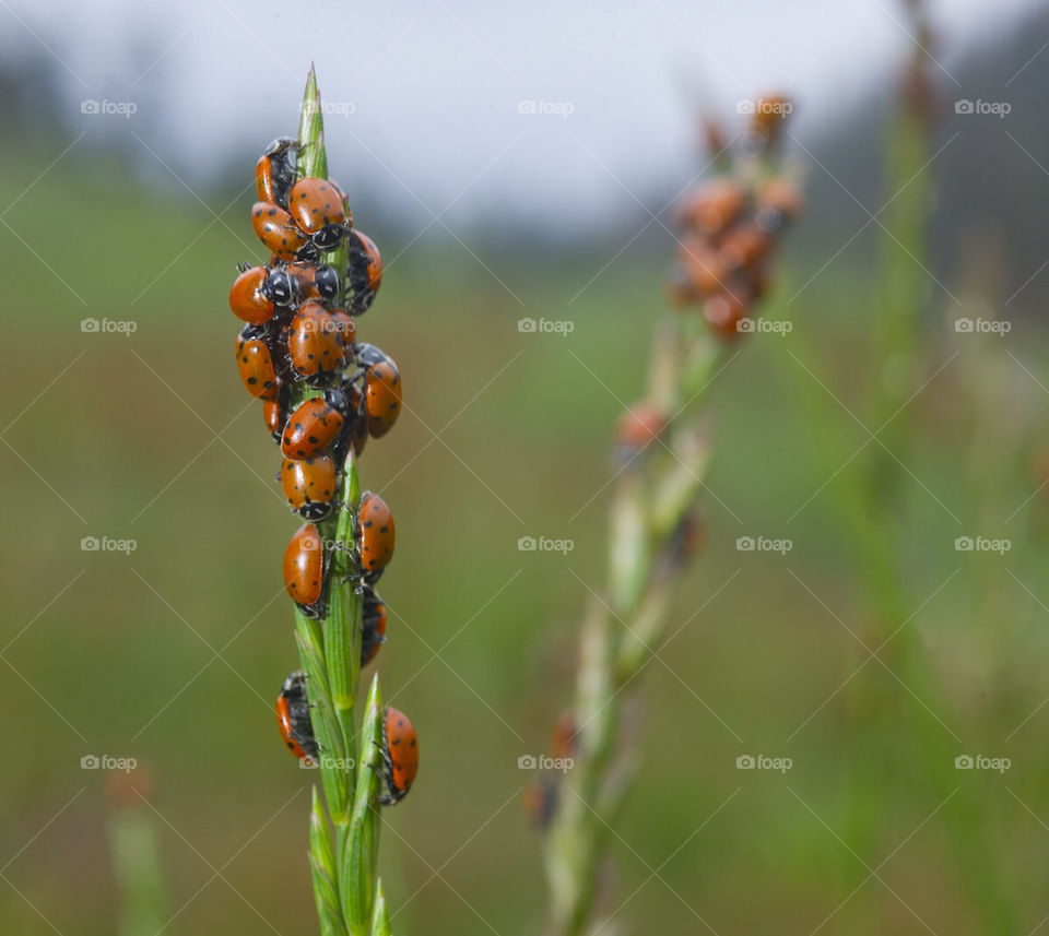
<svg viewBox="0 0 1049 936">
<path fill-rule="evenodd" d="M 304 15 L 255 0 L 0 0 L 0 54 L 56 64 L 71 140 L 115 143 L 191 187 L 241 163 L 250 182 L 262 146 L 295 132 L 313 61 L 344 187 L 402 214 L 573 226 L 686 181 L 698 107 L 732 133 L 740 102 L 786 88 L 803 139 L 870 99 L 910 43 L 901 5 L 405 0 Z M 951 73 L 963 50 L 1039 5 L 931 2 L 948 94 L 964 96 Z M 91 100 L 101 112 L 81 112 Z"/>
</svg>

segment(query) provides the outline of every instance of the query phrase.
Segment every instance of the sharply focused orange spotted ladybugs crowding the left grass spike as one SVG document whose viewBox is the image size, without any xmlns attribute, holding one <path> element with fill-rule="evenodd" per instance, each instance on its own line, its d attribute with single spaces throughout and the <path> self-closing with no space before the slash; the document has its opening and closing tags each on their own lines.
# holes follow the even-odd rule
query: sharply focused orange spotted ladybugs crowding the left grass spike
<svg viewBox="0 0 1049 936">
<path fill-rule="evenodd" d="M 251 223 L 271 258 L 268 265 L 238 268 L 229 307 L 246 322 L 237 336 L 240 379 L 262 401 L 266 426 L 281 447 L 284 494 L 306 521 L 284 553 L 284 585 L 304 614 L 323 618 L 331 549 L 317 524 L 337 506 L 350 449 L 360 455 L 369 437 L 392 428 L 401 410 L 401 378 L 392 358 L 356 340 L 354 318 L 368 310 L 382 281 L 379 250 L 354 228 L 349 200 L 335 182 L 297 177 L 296 150 L 292 139 L 274 140 L 256 165 L 259 201 Z M 345 270 L 320 262 L 322 252 L 343 245 Z M 352 555 L 361 570 L 365 665 L 386 638 L 386 605 L 375 584 L 396 538 L 393 516 L 377 494 L 362 496 L 355 529 Z M 292 753 L 316 762 L 320 751 L 302 671 L 284 682 L 276 715 Z M 411 722 L 392 708 L 386 711 L 384 736 L 381 802 L 391 804 L 415 779 L 419 744 Z"/>
</svg>

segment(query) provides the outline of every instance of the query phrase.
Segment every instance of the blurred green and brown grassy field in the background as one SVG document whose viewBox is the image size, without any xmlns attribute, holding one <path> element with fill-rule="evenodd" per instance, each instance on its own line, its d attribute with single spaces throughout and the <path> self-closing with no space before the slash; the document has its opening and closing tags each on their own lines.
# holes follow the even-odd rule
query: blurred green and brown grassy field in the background
<svg viewBox="0 0 1049 936">
<path fill-rule="evenodd" d="M 39 171 L 27 162 L 0 168 L 3 205 Z M 233 196 L 205 200 L 219 210 Z M 27 901 L 70 936 L 113 926 L 107 806 L 101 773 L 80 769 L 87 754 L 135 757 L 156 777 L 151 802 L 163 817 L 174 908 L 203 887 L 169 932 L 256 933 L 258 914 L 282 933 L 314 925 L 302 861 L 311 778 L 283 750 L 271 711 L 295 665 L 280 577 L 295 524 L 273 481 L 276 450 L 237 379 L 237 323 L 225 301 L 234 263 L 262 257 L 250 200 L 245 190 L 216 222 L 184 191 L 160 200 L 105 161 L 70 161 L 5 215 L 25 244 L 0 228 L 9 258 L 0 418 L 13 420 L 3 436 L 11 448 L 0 447 L 0 644 L 13 640 L 4 655 L 27 680 L 0 663 L 11 727 L 0 862 L 76 796 L 4 870 L 25 897 L 0 884 L 11 932 L 48 931 Z M 397 358 L 405 381 L 397 429 L 362 461 L 364 485 L 390 502 L 399 533 L 382 581 L 394 615 L 378 665 L 388 701 L 412 714 L 423 748 L 412 795 L 386 817 L 381 870 L 394 928 L 480 932 L 483 917 L 499 933 L 534 933 L 542 876 L 519 808 L 531 775 L 517 758 L 542 750 L 568 698 L 586 585 L 601 581 L 604 561 L 599 491 L 614 470 L 608 438 L 620 403 L 602 382 L 624 402 L 639 394 L 661 264 L 656 252 L 632 254 L 569 305 L 608 257 L 546 265 L 467 238 L 504 287 L 453 242 L 424 237 L 398 256 L 403 244 L 357 221 L 389 263 L 382 300 L 360 333 Z M 687 840 L 660 869 L 665 884 L 651 880 L 623 911 L 650 927 L 694 927 L 687 902 L 720 932 L 808 933 L 837 902 L 835 869 L 854 861 L 821 822 L 835 828 L 847 749 L 838 697 L 824 702 L 865 656 L 827 611 L 863 633 L 865 605 L 833 509 L 849 469 L 788 519 L 867 439 L 821 388 L 815 408 L 800 405 L 812 378 L 791 357 L 860 405 L 879 366 L 865 354 L 862 259 L 845 254 L 787 307 L 793 336 L 755 336 L 719 378 L 709 545 L 670 630 L 688 623 L 663 652 L 667 666 L 646 675 L 644 769 L 616 845 L 625 897 Z M 798 272 L 787 274 L 779 304 L 824 260 L 788 258 L 785 270 Z M 522 334 L 522 316 L 570 319 L 575 331 Z M 86 317 L 138 330 L 84 334 Z M 955 345 L 945 322 L 930 328 L 943 335 L 934 369 Z M 906 565 L 922 596 L 963 569 L 911 626 L 934 655 L 935 712 L 962 737 L 958 753 L 1013 759 L 1005 778 L 958 782 L 986 784 L 1002 846 L 989 860 L 1015 866 L 1029 885 L 1018 892 L 1034 926 L 1044 896 L 1034 868 L 1047 842 L 1005 785 L 1035 810 L 1046 805 L 1044 712 L 1004 737 L 1044 697 L 1045 613 L 1007 570 L 1049 601 L 1038 580 L 1045 510 L 1036 497 L 1010 525 L 1003 514 L 1037 484 L 1025 452 L 1049 398 L 1017 381 L 1003 406 L 1010 418 L 1028 414 L 1024 435 L 992 413 L 979 425 L 1000 434 L 998 457 L 987 459 L 999 476 L 981 485 L 986 474 L 964 471 L 987 455 L 971 402 L 987 396 L 979 375 L 1002 362 L 993 341 L 960 345 L 912 404 L 928 429 L 908 467 L 963 522 L 916 482 Z M 1017 323 L 1007 341 L 1045 380 L 1040 332 Z M 916 389 L 926 376 L 915 376 Z M 1028 521 L 1034 538 L 1019 532 Z M 952 550 L 955 536 L 976 533 L 1013 535 L 1014 549 L 1004 560 Z M 570 537 L 575 549 L 522 553 L 524 535 Z M 793 549 L 739 553 L 741 535 L 788 536 Z M 138 547 L 82 552 L 84 536 L 133 537 Z M 893 682 L 876 663 L 854 678 Z M 914 702 L 911 716 L 931 715 Z M 794 767 L 786 778 L 743 773 L 741 754 L 786 755 Z M 884 818 L 886 854 L 941 799 L 901 782 Z M 932 821 L 880 874 L 938 931 L 965 932 L 945 842 Z M 881 893 L 886 927 L 919 932 Z"/>
</svg>

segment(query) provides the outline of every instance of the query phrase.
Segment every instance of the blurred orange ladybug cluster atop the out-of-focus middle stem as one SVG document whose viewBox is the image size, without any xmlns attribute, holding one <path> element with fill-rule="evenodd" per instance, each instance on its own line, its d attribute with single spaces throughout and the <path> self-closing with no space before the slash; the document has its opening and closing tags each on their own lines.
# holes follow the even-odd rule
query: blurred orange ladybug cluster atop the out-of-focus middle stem
<svg viewBox="0 0 1049 936">
<path fill-rule="evenodd" d="M 752 313 L 767 289 L 773 256 L 804 206 L 801 189 L 774 158 L 790 102 L 776 95 L 750 104 L 743 152 L 728 154 L 728 171 L 686 192 L 674 212 L 671 301 L 702 308 L 724 339 L 754 330 Z"/>
</svg>

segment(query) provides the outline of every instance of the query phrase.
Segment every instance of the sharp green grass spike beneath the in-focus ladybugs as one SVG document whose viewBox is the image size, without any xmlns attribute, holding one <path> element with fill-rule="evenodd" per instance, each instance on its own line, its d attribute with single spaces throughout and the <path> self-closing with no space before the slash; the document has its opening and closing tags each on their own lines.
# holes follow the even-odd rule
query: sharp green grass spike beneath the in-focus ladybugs
<svg viewBox="0 0 1049 936">
<path fill-rule="evenodd" d="M 310 68 L 303 98 L 296 173 L 328 178 L 323 117 L 317 78 Z M 345 271 L 345 247 L 322 253 L 320 262 Z M 316 391 L 293 388 L 290 405 Z M 317 524 L 329 557 L 327 609 L 320 619 L 295 609 L 295 637 L 306 672 L 310 721 L 320 748 L 320 780 L 327 816 L 316 787 L 309 822 L 309 862 L 322 936 L 388 934 L 389 921 L 376 875 L 379 842 L 378 767 L 382 702 L 378 677 L 365 703 L 357 735 L 354 708 L 361 674 L 362 601 L 354 577 L 356 512 L 361 501 L 352 447 L 342 466 L 338 507 Z"/>
</svg>

